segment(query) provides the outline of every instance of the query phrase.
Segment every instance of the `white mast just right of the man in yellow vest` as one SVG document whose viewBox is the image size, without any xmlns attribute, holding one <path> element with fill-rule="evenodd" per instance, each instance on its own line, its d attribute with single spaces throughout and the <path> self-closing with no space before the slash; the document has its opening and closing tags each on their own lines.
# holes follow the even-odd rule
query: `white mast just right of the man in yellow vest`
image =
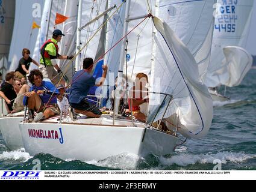
<svg viewBox="0 0 256 192">
<path fill-rule="evenodd" d="M 77 33 L 76 33 L 76 59 L 75 59 L 75 70 L 80 70 L 80 42 L 81 42 L 81 22 L 82 22 L 82 4 L 83 1 L 79 0 L 78 4 L 78 17 L 77 17 Z"/>
</svg>

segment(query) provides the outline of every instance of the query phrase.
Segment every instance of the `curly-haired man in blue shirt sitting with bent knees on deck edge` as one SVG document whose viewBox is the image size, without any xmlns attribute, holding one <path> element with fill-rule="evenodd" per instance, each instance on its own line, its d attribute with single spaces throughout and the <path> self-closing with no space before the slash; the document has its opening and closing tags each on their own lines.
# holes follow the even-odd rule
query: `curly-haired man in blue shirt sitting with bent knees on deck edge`
<svg viewBox="0 0 256 192">
<path fill-rule="evenodd" d="M 33 86 L 25 94 L 23 104 L 28 104 L 28 110 L 32 115 L 36 110 L 37 115 L 34 121 L 37 122 L 54 115 L 60 115 L 57 104 L 57 95 L 60 93 L 58 89 L 51 82 L 44 81 L 43 74 L 39 70 L 31 71 L 28 80 Z"/>
</svg>

